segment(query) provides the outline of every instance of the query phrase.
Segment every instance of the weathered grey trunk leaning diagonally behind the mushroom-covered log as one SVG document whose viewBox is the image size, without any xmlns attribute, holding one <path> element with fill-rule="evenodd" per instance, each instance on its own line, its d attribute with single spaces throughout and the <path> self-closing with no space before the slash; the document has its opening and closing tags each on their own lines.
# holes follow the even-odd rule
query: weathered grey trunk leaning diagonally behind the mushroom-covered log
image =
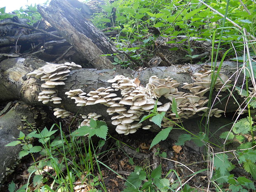
<svg viewBox="0 0 256 192">
<path fill-rule="evenodd" d="M 38 11 L 95 68 L 113 68 L 113 60 L 100 55 L 116 53 L 115 47 L 86 19 L 79 6 L 82 4 L 77 0 L 52 0 L 49 7 L 38 5 Z"/>
</svg>

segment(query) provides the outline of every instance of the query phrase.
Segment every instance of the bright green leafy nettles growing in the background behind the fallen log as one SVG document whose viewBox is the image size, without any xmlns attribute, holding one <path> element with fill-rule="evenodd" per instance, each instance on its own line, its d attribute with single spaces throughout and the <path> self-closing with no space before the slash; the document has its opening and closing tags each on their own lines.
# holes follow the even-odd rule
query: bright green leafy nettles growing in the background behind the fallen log
<svg viewBox="0 0 256 192">
<path fill-rule="evenodd" d="M 230 6 L 227 16 L 231 22 L 223 25 L 225 9 Z M 190 1 L 166 1 L 166 0 L 118 0 L 113 3 L 106 1 L 106 5 L 95 13 L 92 22 L 99 28 L 105 28 L 105 23 L 111 23 L 112 28 L 119 31 L 119 34 L 112 38 L 117 47 L 129 53 L 135 59 L 147 58 L 156 48 L 154 40 L 157 36 L 148 32 L 149 27 L 158 28 L 161 36 L 171 36 L 167 43 L 183 43 L 188 40 L 183 48 L 187 55 L 193 57 L 193 48 L 190 45 L 190 37 L 199 37 L 200 40 L 212 41 L 213 31 L 216 28 L 227 27 L 221 33 L 216 33 L 215 40 L 224 41 L 223 46 L 237 45 L 236 41 L 241 40 L 241 35 L 232 26 L 242 26 L 251 33 L 256 32 L 256 19 L 254 2 L 247 1 L 241 4 L 236 0 L 224 0 L 218 2 L 211 0 L 206 3 L 200 0 Z M 246 7 L 247 9 L 245 9 Z M 115 19 L 111 14 L 116 9 Z M 218 14 L 216 14 L 218 13 Z M 223 14 L 220 16 L 220 14 Z M 113 23 L 114 21 L 114 23 Z M 187 39 L 177 41 L 174 38 L 178 35 L 185 35 Z M 139 50 L 140 53 L 135 52 Z M 174 47 L 175 50 L 175 47 Z M 215 50 L 216 51 L 216 50 Z M 139 56 L 140 55 L 140 56 Z M 230 57 L 234 52 L 229 53 Z"/>
</svg>

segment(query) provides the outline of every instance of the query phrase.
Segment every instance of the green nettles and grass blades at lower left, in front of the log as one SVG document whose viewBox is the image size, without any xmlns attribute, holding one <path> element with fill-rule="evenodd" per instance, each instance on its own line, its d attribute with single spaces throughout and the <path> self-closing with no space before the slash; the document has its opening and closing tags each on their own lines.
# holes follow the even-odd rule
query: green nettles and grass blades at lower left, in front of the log
<svg viewBox="0 0 256 192">
<path fill-rule="evenodd" d="M 60 136 L 56 136 L 58 129 Z M 19 158 L 31 154 L 34 163 L 28 168 L 28 183 L 16 189 L 15 184 L 9 184 L 9 191 L 29 192 L 30 179 L 33 178 L 32 184 L 36 187 L 35 191 L 57 192 L 57 191 L 74 191 L 79 182 L 84 182 L 89 186 L 90 192 L 100 192 L 95 187 L 101 187 L 104 191 L 104 183 L 99 181 L 97 175 L 94 175 L 95 167 L 99 167 L 96 150 L 102 147 L 107 137 L 107 125 L 103 121 L 90 119 L 88 126 L 81 126 L 78 130 L 67 137 L 61 126 L 54 124 L 49 130 L 45 127 L 42 131 L 35 130 L 28 135 L 20 132 L 16 141 L 13 141 L 6 147 L 22 145 Z M 88 139 L 81 137 L 88 135 Z M 98 145 L 93 145 L 92 136 L 101 138 Z M 41 146 L 33 146 L 31 140 L 37 139 Z M 40 153 L 44 156 L 41 160 L 36 160 L 34 154 Z M 104 153 L 104 152 L 102 152 Z M 84 155 L 86 154 L 86 155 Z M 100 172 L 100 169 L 99 169 Z M 101 180 L 103 181 L 100 172 Z M 78 184 L 76 184 L 78 181 Z M 49 186 L 51 184 L 51 187 Z"/>
</svg>

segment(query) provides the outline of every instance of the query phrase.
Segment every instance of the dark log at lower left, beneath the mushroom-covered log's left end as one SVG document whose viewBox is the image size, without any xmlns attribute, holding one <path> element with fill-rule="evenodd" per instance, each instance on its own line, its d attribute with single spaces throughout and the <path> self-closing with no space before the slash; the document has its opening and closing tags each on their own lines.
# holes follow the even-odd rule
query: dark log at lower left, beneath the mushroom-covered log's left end
<svg viewBox="0 0 256 192">
<path fill-rule="evenodd" d="M 24 102 L 11 103 L 0 111 L 0 162 L 2 165 L 0 166 L 0 183 L 5 174 L 13 171 L 13 164 L 19 164 L 18 154 L 21 151 L 21 145 L 13 147 L 5 147 L 5 145 L 16 140 L 20 131 L 25 134 L 29 133 L 30 127 L 27 122 L 37 128 L 43 126 L 44 122 L 37 121 L 38 114 L 39 111 L 32 109 Z"/>
</svg>

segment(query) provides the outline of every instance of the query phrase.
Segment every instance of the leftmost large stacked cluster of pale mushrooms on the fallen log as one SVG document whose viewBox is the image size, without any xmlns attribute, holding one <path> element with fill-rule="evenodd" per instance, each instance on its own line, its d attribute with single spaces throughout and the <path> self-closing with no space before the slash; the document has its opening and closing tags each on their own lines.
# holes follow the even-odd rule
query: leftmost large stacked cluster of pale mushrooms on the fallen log
<svg viewBox="0 0 256 192">
<path fill-rule="evenodd" d="M 45 83 L 41 85 L 42 88 L 55 88 L 56 85 L 65 85 L 63 81 L 67 79 L 71 69 L 80 68 L 82 68 L 81 65 L 77 65 L 73 62 L 66 62 L 65 64 L 53 64 L 47 62 L 45 66 L 28 73 L 27 76 L 36 76 L 36 78 L 40 78 L 41 81 L 45 81 Z M 61 100 L 60 97 L 57 97 L 55 90 L 44 89 L 38 96 L 38 101 L 42 101 L 43 104 L 48 102 L 60 104 Z"/>
</svg>

